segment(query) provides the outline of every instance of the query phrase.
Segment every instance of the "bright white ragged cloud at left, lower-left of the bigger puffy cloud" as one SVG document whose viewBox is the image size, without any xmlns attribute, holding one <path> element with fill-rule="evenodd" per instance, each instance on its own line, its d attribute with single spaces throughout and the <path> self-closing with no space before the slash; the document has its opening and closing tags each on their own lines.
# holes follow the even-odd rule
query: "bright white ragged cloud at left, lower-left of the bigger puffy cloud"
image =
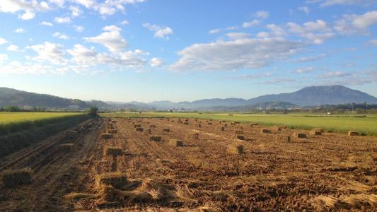
<svg viewBox="0 0 377 212">
<path fill-rule="evenodd" d="M 52 64 L 64 64 L 65 51 L 62 45 L 45 42 L 42 45 L 28 46 L 26 49 L 33 49 L 36 53 L 36 57 L 28 57 L 35 61 L 49 61 Z"/>
</svg>

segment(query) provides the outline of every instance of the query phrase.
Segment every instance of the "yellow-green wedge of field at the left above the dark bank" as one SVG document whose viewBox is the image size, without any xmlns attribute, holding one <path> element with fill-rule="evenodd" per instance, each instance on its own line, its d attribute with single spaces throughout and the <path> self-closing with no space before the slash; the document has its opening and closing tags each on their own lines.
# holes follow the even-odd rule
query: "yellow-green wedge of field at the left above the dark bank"
<svg viewBox="0 0 377 212">
<path fill-rule="evenodd" d="M 0 112 L 0 135 L 82 116 L 79 112 Z"/>
</svg>

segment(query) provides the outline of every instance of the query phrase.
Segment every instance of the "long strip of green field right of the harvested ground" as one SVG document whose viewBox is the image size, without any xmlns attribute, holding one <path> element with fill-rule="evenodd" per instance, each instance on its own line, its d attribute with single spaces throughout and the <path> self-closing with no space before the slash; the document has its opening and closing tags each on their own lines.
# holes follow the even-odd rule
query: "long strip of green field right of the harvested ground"
<svg viewBox="0 0 377 212">
<path fill-rule="evenodd" d="M 326 116 L 318 114 L 238 114 L 226 113 L 171 113 L 143 112 L 139 113 L 107 113 L 102 117 L 189 117 L 199 119 L 216 119 L 238 121 L 242 123 L 258 123 L 265 126 L 286 125 L 294 129 L 323 128 L 325 131 L 347 132 L 359 131 L 361 134 L 377 136 L 377 116 Z"/>
</svg>

